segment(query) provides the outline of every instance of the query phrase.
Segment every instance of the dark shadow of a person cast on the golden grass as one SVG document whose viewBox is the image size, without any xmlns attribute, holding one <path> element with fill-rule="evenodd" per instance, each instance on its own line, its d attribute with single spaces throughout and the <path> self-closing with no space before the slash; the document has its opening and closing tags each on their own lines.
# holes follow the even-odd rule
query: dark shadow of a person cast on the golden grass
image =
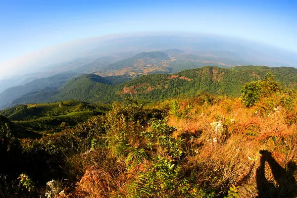
<svg viewBox="0 0 297 198">
<path fill-rule="evenodd" d="M 271 155 L 268 150 L 260 150 L 262 154 L 260 166 L 256 170 L 256 183 L 258 189 L 257 198 L 296 198 L 297 184 L 294 173 L 297 170 L 295 162 L 290 161 L 287 168 L 283 168 Z M 277 183 L 269 182 L 265 177 L 265 162 L 271 168 L 273 177 Z"/>
</svg>

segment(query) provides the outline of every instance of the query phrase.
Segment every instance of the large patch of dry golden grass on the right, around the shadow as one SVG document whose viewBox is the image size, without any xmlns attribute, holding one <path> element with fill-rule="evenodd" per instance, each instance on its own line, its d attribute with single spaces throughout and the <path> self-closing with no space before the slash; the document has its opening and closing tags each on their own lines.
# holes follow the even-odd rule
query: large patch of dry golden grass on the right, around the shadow
<svg viewBox="0 0 297 198">
<path fill-rule="evenodd" d="M 240 185 L 242 198 L 255 198 L 260 150 L 271 151 L 283 168 L 290 161 L 297 162 L 297 128 L 296 124 L 288 125 L 287 110 L 279 106 L 272 113 L 261 115 L 258 109 L 258 106 L 247 108 L 238 99 L 223 99 L 213 105 L 194 104 L 188 117 L 169 115 L 168 124 L 177 129 L 174 137 L 195 137 L 186 152 L 187 166 L 197 167 L 199 182 L 220 189 Z M 218 119 L 228 133 L 226 141 L 211 126 Z M 267 164 L 265 167 L 267 180 L 277 186 L 270 167 Z"/>
</svg>

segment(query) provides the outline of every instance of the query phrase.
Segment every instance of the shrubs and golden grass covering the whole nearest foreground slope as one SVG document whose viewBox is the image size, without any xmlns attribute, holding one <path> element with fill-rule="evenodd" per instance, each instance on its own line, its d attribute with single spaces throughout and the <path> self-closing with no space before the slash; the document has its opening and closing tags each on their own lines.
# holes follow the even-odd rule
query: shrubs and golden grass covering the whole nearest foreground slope
<svg viewBox="0 0 297 198">
<path fill-rule="evenodd" d="M 267 75 L 242 93 L 129 99 L 39 139 L 16 138 L 3 124 L 0 195 L 297 197 L 296 92 Z"/>
</svg>

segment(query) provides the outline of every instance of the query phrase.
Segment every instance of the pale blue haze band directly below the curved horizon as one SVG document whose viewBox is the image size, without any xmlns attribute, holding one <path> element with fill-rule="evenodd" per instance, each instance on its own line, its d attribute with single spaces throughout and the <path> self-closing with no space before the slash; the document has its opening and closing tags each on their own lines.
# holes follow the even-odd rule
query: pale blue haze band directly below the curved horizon
<svg viewBox="0 0 297 198">
<path fill-rule="evenodd" d="M 69 71 L 72 69 L 71 66 L 67 68 L 65 65 L 69 65 L 69 62 L 75 64 L 82 59 L 86 62 L 80 62 L 80 65 L 84 66 L 90 59 L 107 56 L 111 62 L 143 51 L 167 49 L 180 49 L 185 54 L 209 57 L 210 61 L 211 58 L 232 60 L 228 66 L 250 64 L 295 67 L 297 65 L 297 54 L 294 52 L 243 39 L 190 33 L 162 33 L 106 36 L 61 44 L 1 63 L 0 68 L 3 72 L 0 78 L 8 79 L 13 76 L 12 74 L 21 76 L 44 71 L 57 73 L 59 71 L 56 70 L 60 66 L 63 71 Z M 99 68 L 102 63 L 94 64 Z"/>
</svg>

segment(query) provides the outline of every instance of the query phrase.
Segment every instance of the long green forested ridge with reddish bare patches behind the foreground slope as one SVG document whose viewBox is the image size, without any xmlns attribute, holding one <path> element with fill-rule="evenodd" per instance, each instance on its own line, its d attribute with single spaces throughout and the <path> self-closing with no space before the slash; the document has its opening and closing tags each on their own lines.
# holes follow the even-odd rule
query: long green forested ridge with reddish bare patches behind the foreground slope
<svg viewBox="0 0 297 198">
<path fill-rule="evenodd" d="M 297 69 L 291 67 L 239 66 L 220 68 L 207 66 L 184 70 L 176 74 L 144 75 L 116 85 L 107 78 L 87 74 L 68 81 L 56 90 L 28 93 L 13 100 L 12 104 L 68 99 L 110 102 L 121 100 L 129 95 L 147 100 L 167 99 L 182 94 L 195 96 L 199 93 L 239 96 L 240 88 L 244 83 L 260 80 L 269 71 L 276 76 L 277 81 L 284 85 L 295 86 L 297 83 Z"/>
</svg>

